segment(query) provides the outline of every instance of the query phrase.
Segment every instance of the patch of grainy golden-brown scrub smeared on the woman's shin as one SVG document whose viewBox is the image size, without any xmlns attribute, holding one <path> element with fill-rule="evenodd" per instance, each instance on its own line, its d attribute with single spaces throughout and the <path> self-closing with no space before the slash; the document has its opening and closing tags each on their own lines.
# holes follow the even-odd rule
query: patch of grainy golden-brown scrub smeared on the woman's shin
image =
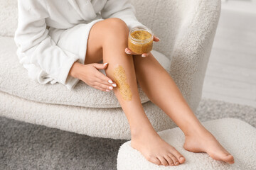
<svg viewBox="0 0 256 170">
<path fill-rule="evenodd" d="M 120 94 L 124 101 L 131 101 L 132 100 L 132 91 L 130 86 L 127 82 L 127 77 L 125 75 L 125 70 L 122 66 L 118 66 L 114 69 L 114 79 L 117 83 L 117 89 L 119 90 Z"/>
</svg>

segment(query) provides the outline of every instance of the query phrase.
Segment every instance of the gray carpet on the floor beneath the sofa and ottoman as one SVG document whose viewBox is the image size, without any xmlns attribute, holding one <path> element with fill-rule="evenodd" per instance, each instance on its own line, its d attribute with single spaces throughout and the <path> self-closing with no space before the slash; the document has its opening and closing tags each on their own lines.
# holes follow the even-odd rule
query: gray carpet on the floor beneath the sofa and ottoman
<svg viewBox="0 0 256 170">
<path fill-rule="evenodd" d="M 239 118 L 256 127 L 256 108 L 203 99 L 201 121 Z M 119 147 L 127 140 L 78 135 L 0 117 L 0 169 L 117 169 Z"/>
</svg>

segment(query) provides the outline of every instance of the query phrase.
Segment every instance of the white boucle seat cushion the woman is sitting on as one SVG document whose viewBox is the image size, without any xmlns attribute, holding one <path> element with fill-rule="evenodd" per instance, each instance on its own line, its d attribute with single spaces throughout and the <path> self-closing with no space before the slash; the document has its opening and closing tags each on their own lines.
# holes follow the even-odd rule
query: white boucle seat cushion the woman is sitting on
<svg viewBox="0 0 256 170">
<path fill-rule="evenodd" d="M 65 104 L 70 106 L 84 106 L 92 108 L 120 107 L 114 92 L 100 91 L 79 81 L 70 91 L 63 84 L 38 84 L 28 78 L 27 71 L 18 62 L 15 55 L 14 39 L 0 37 L 0 91 L 41 103 Z M 156 59 L 169 70 L 170 60 L 159 52 L 152 51 Z M 102 71 L 102 70 L 101 70 Z M 105 74 L 104 71 L 102 73 Z M 149 101 L 139 86 L 142 103 Z"/>
</svg>

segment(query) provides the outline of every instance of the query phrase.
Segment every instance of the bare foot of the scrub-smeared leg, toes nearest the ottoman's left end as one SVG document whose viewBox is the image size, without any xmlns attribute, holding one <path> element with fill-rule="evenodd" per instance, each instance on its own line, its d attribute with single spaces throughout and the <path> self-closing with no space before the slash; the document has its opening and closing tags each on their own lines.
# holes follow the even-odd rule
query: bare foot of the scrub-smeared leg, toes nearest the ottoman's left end
<svg viewBox="0 0 256 170">
<path fill-rule="evenodd" d="M 151 128 L 132 133 L 131 146 L 154 164 L 174 166 L 185 162 L 185 158 Z"/>
</svg>

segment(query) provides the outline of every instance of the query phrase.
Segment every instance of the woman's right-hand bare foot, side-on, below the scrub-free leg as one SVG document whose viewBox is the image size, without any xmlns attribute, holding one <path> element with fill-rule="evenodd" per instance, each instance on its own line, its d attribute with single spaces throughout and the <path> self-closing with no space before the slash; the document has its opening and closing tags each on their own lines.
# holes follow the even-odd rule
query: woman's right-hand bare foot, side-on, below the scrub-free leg
<svg viewBox="0 0 256 170">
<path fill-rule="evenodd" d="M 194 132 L 185 135 L 184 149 L 190 152 L 206 152 L 213 159 L 234 164 L 233 156 L 220 145 L 218 140 L 208 131 Z"/>
</svg>

